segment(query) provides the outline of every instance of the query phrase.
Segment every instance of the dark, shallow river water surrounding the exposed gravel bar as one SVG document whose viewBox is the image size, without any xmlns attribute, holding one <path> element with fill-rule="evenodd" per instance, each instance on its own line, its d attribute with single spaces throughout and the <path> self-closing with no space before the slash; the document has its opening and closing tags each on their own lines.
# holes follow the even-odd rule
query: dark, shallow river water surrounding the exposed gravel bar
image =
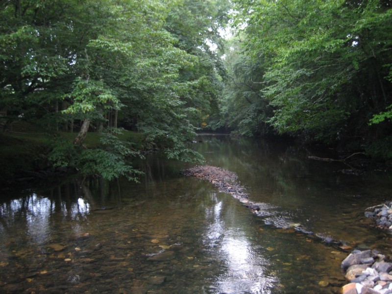
<svg viewBox="0 0 392 294">
<path fill-rule="evenodd" d="M 282 143 L 199 139 L 208 164 L 238 174 L 259 215 L 154 156 L 140 184 L 2 190 L 0 293 L 338 293 L 348 252 L 298 227 L 392 254 L 392 235 L 364 217 L 391 200 L 391 174 L 343 174 L 342 163 Z"/>
</svg>

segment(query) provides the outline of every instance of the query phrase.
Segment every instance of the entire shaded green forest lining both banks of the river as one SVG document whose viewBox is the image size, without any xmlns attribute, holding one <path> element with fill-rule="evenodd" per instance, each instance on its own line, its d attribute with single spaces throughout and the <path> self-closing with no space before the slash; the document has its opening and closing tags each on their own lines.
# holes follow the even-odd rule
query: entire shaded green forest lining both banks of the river
<svg viewBox="0 0 392 294">
<path fill-rule="evenodd" d="M 1 0 L 1 140 L 42 132 L 50 165 L 108 179 L 134 179 L 128 159 L 141 149 L 201 161 L 192 141 L 203 129 L 284 134 L 389 160 L 391 6 Z M 142 147 L 121 139 L 127 131 Z"/>
</svg>

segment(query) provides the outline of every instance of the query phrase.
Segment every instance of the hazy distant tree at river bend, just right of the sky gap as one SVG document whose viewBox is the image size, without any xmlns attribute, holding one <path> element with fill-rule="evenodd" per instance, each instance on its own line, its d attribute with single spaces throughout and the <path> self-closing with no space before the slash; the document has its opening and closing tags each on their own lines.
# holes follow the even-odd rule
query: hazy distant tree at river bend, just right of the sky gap
<svg viewBox="0 0 392 294">
<path fill-rule="evenodd" d="M 234 133 L 253 136 L 271 132 L 267 120 L 272 115 L 267 98 L 262 93 L 265 68 L 262 60 L 255 63 L 242 54 L 239 40 L 228 41 L 224 64 L 227 81 L 220 101 L 221 117 L 217 127 L 228 126 Z"/>
</svg>

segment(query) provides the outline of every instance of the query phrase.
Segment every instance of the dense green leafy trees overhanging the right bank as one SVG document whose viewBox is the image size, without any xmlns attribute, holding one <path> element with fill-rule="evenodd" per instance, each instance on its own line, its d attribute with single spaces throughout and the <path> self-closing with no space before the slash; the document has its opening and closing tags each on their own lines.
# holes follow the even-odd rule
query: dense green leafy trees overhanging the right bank
<svg viewBox="0 0 392 294">
<path fill-rule="evenodd" d="M 233 2 L 242 55 L 228 61 L 237 80 L 226 88 L 224 102 L 232 107 L 229 114 L 244 115 L 230 119 L 232 127 L 246 133 L 245 123 L 247 132 L 260 133 L 245 113 L 262 113 L 260 126 L 308 141 L 356 148 L 386 142 L 392 126 L 391 1 Z"/>
</svg>

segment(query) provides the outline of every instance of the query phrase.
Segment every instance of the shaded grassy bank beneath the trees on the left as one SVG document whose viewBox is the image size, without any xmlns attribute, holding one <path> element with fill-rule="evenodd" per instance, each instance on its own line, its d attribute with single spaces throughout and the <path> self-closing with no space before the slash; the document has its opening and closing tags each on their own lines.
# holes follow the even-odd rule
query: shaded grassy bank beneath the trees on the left
<svg viewBox="0 0 392 294">
<path fill-rule="evenodd" d="M 0 134 L 0 183 L 13 182 L 31 172 L 50 168 L 48 155 L 54 140 L 58 137 L 72 142 L 76 133 L 59 132 L 6 132 Z M 143 149 L 142 134 L 123 131 L 119 139 L 132 143 L 136 150 Z M 87 148 L 100 146 L 99 134 L 88 133 L 85 141 Z"/>
</svg>

